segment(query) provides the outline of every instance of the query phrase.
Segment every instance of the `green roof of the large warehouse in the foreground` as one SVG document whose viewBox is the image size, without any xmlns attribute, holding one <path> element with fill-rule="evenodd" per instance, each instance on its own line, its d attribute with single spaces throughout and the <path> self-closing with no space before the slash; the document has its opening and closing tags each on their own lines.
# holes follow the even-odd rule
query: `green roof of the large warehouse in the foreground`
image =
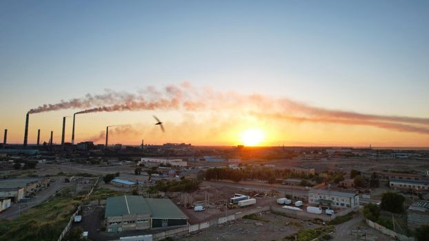
<svg viewBox="0 0 429 241">
<path fill-rule="evenodd" d="M 150 214 L 152 218 L 188 218 L 170 199 L 118 196 L 108 198 L 104 217 Z"/>
</svg>

